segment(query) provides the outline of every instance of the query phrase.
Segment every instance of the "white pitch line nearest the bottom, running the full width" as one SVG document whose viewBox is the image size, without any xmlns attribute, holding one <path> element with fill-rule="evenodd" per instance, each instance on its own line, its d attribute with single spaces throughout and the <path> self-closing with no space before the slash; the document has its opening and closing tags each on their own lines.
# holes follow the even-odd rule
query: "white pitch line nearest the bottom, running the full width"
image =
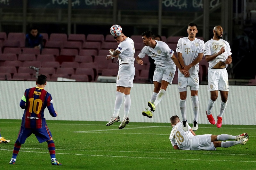
<svg viewBox="0 0 256 170">
<path fill-rule="evenodd" d="M 0 149 L 5 151 L 12 151 L 6 149 Z M 32 152 L 32 153 L 49 153 L 49 152 L 35 152 L 35 151 L 20 151 L 20 152 Z M 56 153 L 64 155 L 80 155 L 80 156 L 100 156 L 100 157 L 117 157 L 117 158 L 141 158 L 141 159 L 172 159 L 172 160 L 196 160 L 196 161 L 218 161 L 218 162 L 256 162 L 256 161 L 244 161 L 244 160 L 210 160 L 210 159 L 176 159 L 176 158 L 154 158 L 154 157 L 137 157 L 137 156 L 113 156 L 113 155 L 95 155 L 95 154 L 77 154 L 77 153 Z"/>
</svg>

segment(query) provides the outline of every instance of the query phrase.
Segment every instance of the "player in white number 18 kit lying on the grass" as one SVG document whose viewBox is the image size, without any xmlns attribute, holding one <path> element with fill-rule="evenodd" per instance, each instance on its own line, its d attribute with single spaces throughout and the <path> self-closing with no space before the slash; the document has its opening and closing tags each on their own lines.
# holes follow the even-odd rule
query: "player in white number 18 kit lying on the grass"
<svg viewBox="0 0 256 170">
<path fill-rule="evenodd" d="M 197 135 L 188 125 L 188 131 L 182 129 L 183 124 L 180 122 L 180 118 L 172 116 L 170 118 L 172 124 L 172 131 L 170 134 L 170 140 L 173 149 L 181 150 L 216 150 L 217 147 L 228 148 L 236 144 L 246 144 L 249 139 L 247 133 L 243 133 L 238 136 L 232 136 L 227 134 L 221 135 Z M 232 140 L 234 139 L 234 140 Z M 226 141 L 232 140 L 232 141 Z M 225 141 L 225 142 L 223 142 Z"/>
</svg>

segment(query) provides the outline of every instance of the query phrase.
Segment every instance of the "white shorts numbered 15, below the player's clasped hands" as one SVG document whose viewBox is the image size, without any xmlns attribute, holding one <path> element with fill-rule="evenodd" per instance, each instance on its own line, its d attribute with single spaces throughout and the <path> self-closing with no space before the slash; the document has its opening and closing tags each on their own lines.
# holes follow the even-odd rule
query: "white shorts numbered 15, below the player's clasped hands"
<svg viewBox="0 0 256 170">
<path fill-rule="evenodd" d="M 184 77 L 182 73 L 179 73 L 178 76 L 178 88 L 179 92 L 187 91 L 187 87 L 190 87 L 190 90 L 198 91 L 199 87 L 199 77 L 198 74 L 190 75 L 189 77 Z"/>
</svg>

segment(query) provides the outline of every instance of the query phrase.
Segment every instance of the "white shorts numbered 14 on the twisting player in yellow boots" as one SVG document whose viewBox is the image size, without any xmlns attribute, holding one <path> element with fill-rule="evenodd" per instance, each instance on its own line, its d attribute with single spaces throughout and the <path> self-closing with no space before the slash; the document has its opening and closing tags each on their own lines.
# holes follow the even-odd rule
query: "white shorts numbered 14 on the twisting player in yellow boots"
<svg viewBox="0 0 256 170">
<path fill-rule="evenodd" d="M 174 78 L 175 71 L 176 71 L 176 65 L 156 66 L 153 81 L 157 81 L 161 83 L 162 80 L 164 80 L 171 85 L 172 80 Z"/>
</svg>

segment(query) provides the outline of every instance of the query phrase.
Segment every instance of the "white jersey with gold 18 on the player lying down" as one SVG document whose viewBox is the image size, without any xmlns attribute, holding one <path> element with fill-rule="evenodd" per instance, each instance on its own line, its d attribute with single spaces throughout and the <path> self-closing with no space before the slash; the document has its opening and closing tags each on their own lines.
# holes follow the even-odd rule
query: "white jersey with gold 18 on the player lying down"
<svg viewBox="0 0 256 170">
<path fill-rule="evenodd" d="M 183 127 L 182 122 L 179 122 L 172 127 L 172 131 L 170 134 L 172 147 L 174 145 L 178 145 L 179 148 L 182 150 L 190 150 L 191 140 L 192 140 L 192 137 L 194 137 L 194 135 L 189 131 L 189 129 L 191 129 L 189 124 L 188 124 L 188 131 L 186 132 L 182 129 L 182 127 Z"/>
</svg>

